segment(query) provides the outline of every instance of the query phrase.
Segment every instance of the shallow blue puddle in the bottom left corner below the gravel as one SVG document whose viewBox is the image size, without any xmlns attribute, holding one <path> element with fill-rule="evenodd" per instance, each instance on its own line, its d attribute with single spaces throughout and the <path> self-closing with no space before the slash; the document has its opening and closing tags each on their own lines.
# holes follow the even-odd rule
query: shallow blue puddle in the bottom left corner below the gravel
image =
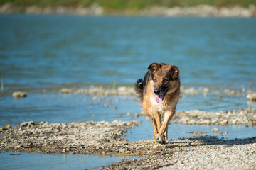
<svg viewBox="0 0 256 170">
<path fill-rule="evenodd" d="M 0 169 L 100 169 L 102 166 L 136 157 L 82 154 L 0 153 Z"/>
</svg>

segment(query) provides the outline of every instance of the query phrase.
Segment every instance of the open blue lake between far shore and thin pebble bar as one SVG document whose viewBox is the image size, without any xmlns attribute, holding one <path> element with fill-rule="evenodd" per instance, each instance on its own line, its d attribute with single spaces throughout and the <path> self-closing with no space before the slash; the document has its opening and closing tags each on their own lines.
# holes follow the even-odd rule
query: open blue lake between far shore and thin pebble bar
<svg viewBox="0 0 256 170">
<path fill-rule="evenodd" d="M 255 40 L 256 18 L 0 15 L 0 74 L 6 90 L 134 84 L 165 62 L 183 86 L 248 89 Z"/>
</svg>

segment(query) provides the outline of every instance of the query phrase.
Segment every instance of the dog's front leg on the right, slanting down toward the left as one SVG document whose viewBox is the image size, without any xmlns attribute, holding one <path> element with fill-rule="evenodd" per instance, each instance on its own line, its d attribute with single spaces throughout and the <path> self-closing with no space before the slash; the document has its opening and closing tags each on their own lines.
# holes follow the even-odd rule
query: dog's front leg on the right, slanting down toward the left
<svg viewBox="0 0 256 170">
<path fill-rule="evenodd" d="M 161 128 L 159 129 L 159 133 L 156 135 L 156 142 L 160 142 L 162 144 L 165 144 L 167 140 L 167 130 L 168 125 L 170 123 L 171 118 L 174 116 L 175 111 L 167 111 L 164 113 L 164 123 L 161 125 Z"/>
</svg>

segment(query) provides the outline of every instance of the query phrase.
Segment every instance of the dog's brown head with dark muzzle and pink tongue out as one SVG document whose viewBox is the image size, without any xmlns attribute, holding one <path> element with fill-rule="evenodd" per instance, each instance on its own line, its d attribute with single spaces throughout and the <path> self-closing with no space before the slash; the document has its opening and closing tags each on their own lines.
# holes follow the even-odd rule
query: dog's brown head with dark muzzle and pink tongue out
<svg viewBox="0 0 256 170">
<path fill-rule="evenodd" d="M 156 102 L 161 103 L 166 94 L 173 93 L 180 86 L 178 67 L 175 65 L 152 63 L 148 69 L 154 81 Z"/>
</svg>

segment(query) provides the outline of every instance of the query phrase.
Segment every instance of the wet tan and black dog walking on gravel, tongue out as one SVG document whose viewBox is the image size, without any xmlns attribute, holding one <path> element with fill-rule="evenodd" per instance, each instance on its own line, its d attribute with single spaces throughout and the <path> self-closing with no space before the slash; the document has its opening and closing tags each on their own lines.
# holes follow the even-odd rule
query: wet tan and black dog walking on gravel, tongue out
<svg viewBox="0 0 256 170">
<path fill-rule="evenodd" d="M 137 80 L 135 91 L 152 121 L 154 140 L 165 144 L 168 125 L 175 114 L 180 94 L 179 69 L 164 63 L 152 63 L 148 69 L 144 79 Z"/>
</svg>

